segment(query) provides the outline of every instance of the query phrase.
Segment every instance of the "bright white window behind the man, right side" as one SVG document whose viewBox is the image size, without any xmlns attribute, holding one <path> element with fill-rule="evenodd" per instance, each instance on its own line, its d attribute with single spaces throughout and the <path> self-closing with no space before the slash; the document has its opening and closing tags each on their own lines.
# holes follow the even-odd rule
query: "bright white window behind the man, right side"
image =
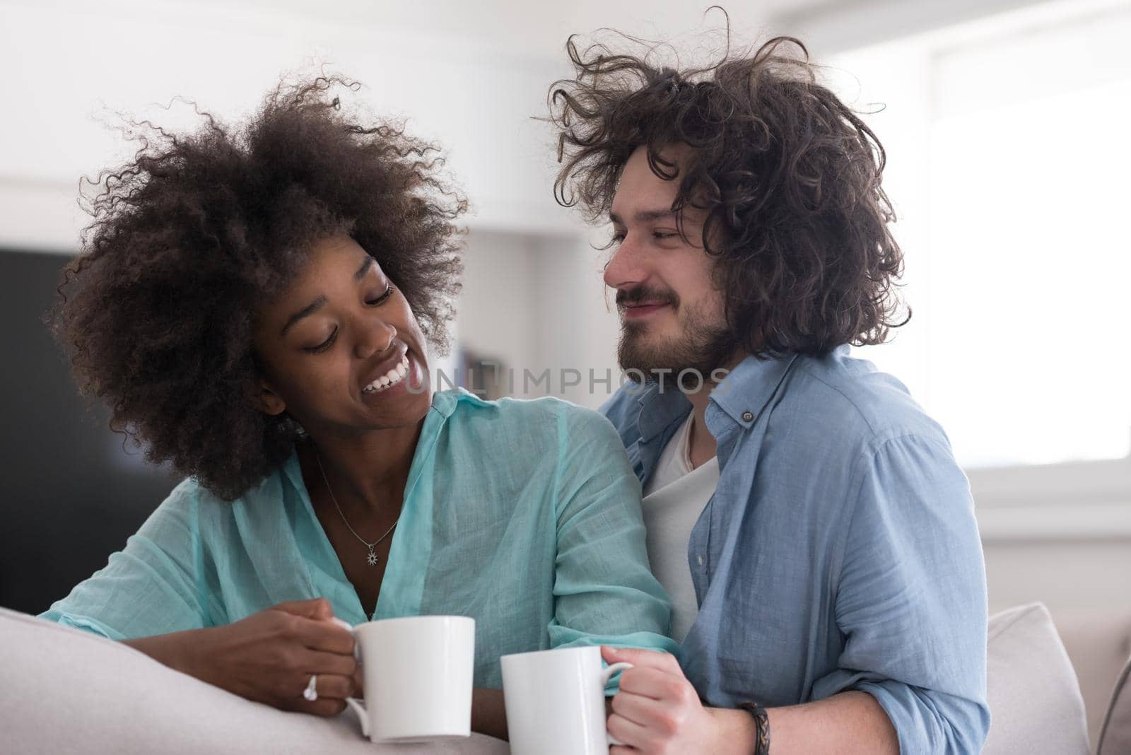
<svg viewBox="0 0 1131 755">
<path fill-rule="evenodd" d="M 867 120 L 915 311 L 858 352 L 909 384 L 968 469 L 1087 476 L 1070 462 L 1131 452 L 1129 37 L 1123 8 L 834 62 L 849 102 L 887 104 Z"/>
</svg>

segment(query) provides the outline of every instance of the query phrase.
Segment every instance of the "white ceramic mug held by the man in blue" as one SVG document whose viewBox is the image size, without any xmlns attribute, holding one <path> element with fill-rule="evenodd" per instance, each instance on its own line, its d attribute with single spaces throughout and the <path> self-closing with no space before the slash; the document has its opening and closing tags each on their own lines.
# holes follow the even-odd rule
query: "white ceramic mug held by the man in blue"
<svg viewBox="0 0 1131 755">
<path fill-rule="evenodd" d="M 608 755 L 605 685 L 632 663 L 601 668 L 601 648 L 503 656 L 511 755 Z"/>
</svg>

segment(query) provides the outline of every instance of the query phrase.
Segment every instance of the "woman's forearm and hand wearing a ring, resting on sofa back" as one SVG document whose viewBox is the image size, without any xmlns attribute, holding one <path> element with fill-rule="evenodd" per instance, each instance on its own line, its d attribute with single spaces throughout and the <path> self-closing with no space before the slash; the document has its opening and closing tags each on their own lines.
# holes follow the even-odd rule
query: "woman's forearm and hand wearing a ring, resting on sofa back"
<svg viewBox="0 0 1131 755">
<path fill-rule="evenodd" d="M 285 711 L 337 715 L 361 691 L 353 636 L 325 598 L 279 604 L 244 619 L 127 644 L 233 694 Z M 303 697 L 318 675 L 318 700 Z"/>
</svg>

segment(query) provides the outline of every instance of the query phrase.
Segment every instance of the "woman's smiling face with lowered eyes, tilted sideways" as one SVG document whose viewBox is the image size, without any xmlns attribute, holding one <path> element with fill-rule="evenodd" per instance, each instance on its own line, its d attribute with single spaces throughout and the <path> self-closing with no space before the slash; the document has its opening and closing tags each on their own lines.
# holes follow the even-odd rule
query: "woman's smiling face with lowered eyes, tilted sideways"
<svg viewBox="0 0 1131 755">
<path fill-rule="evenodd" d="M 400 290 L 357 242 L 314 244 L 291 286 L 259 312 L 260 400 L 308 432 L 418 423 L 431 406 L 424 333 Z"/>
</svg>

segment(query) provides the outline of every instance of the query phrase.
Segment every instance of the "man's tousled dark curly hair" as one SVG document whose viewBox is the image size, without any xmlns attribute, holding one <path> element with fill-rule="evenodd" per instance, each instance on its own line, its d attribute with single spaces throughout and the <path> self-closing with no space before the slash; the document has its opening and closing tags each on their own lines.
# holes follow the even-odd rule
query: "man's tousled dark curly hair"
<svg viewBox="0 0 1131 755">
<path fill-rule="evenodd" d="M 576 77 L 550 95 L 558 201 L 603 220 L 625 163 L 646 147 L 653 172 L 680 181 L 676 216 L 706 212 L 702 245 L 735 346 L 759 357 L 823 354 L 880 344 L 907 322 L 895 215 L 880 186 L 883 147 L 817 83 L 800 41 L 776 37 L 752 55 L 728 51 L 683 71 L 654 66 L 654 50 L 581 51 L 570 37 L 567 51 Z M 682 175 L 661 157 L 676 145 L 691 153 Z"/>
</svg>

